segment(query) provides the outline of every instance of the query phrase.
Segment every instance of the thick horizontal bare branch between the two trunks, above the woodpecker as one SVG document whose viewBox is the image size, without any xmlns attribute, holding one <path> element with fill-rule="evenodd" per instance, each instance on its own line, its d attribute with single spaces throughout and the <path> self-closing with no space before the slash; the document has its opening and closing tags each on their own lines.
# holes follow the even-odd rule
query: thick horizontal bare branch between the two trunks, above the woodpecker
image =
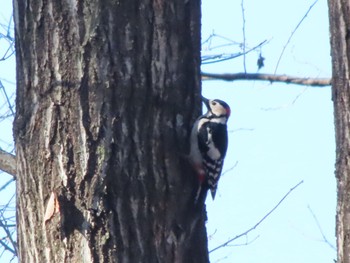
<svg viewBox="0 0 350 263">
<path fill-rule="evenodd" d="M 312 87 L 326 87 L 331 85 L 329 78 L 299 78 L 288 75 L 260 74 L 260 73 L 204 73 L 202 72 L 202 80 L 258 80 L 270 82 L 283 82 L 286 84 L 305 85 Z"/>
</svg>

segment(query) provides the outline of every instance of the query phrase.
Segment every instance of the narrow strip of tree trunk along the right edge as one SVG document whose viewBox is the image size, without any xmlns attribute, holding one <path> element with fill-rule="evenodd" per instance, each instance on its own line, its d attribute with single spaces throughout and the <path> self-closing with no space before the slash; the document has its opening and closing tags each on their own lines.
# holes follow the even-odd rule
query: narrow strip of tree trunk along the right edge
<svg viewBox="0 0 350 263">
<path fill-rule="evenodd" d="M 336 131 L 337 263 L 350 262 L 350 2 L 329 0 Z"/>
</svg>

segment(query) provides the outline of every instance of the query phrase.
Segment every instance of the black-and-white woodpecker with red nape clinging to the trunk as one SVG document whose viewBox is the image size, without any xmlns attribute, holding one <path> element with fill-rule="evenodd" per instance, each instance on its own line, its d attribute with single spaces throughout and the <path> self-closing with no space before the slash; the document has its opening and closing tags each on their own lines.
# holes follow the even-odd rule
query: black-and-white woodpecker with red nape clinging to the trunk
<svg viewBox="0 0 350 263">
<path fill-rule="evenodd" d="M 213 200 L 228 146 L 227 120 L 231 110 L 222 100 L 202 97 L 208 111 L 200 116 L 191 132 L 190 160 L 197 173 L 199 189 L 195 202 L 210 189 Z"/>
</svg>

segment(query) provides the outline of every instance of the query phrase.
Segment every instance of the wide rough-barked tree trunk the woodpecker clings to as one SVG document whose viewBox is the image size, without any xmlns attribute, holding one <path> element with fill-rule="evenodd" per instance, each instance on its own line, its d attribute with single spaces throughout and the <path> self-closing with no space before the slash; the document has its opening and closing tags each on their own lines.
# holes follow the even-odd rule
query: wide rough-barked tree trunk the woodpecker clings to
<svg viewBox="0 0 350 263">
<path fill-rule="evenodd" d="M 208 262 L 185 158 L 200 109 L 200 1 L 14 10 L 20 261 Z M 50 196 L 59 212 L 44 220 Z"/>
</svg>

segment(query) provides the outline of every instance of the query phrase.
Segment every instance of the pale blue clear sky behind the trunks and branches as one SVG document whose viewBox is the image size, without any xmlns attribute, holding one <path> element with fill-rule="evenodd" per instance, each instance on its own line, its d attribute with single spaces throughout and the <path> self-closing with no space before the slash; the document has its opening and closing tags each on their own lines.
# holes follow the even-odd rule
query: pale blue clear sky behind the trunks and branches
<svg viewBox="0 0 350 263">
<path fill-rule="evenodd" d="M 203 44 L 202 55 L 239 53 L 244 42 L 246 50 L 266 40 L 265 44 L 247 54 L 245 63 L 239 57 L 202 65 L 202 71 L 244 72 L 245 64 L 250 73 L 331 76 L 327 1 L 319 0 L 302 23 L 314 0 L 244 1 L 245 22 L 241 4 L 237 0 L 202 1 L 202 40 L 216 35 Z M 6 0 L 0 10 L 1 24 L 11 14 L 11 1 Z M 5 45 L 0 40 L 0 52 Z M 265 66 L 258 71 L 260 52 Z M 1 61 L 0 80 L 13 102 L 14 57 Z M 202 89 L 208 98 L 225 100 L 232 111 L 227 172 L 215 201 L 207 200 L 209 250 L 252 228 L 303 181 L 255 230 L 211 252 L 211 262 L 333 262 L 336 182 L 331 88 L 204 81 Z M 0 89 L 0 114 L 6 112 L 4 105 Z M 0 147 L 11 151 L 11 120 L 0 120 L 0 135 Z M 10 178 L 0 174 L 0 187 Z M 13 193 L 14 183 L 0 192 L 0 205 Z"/>
</svg>

